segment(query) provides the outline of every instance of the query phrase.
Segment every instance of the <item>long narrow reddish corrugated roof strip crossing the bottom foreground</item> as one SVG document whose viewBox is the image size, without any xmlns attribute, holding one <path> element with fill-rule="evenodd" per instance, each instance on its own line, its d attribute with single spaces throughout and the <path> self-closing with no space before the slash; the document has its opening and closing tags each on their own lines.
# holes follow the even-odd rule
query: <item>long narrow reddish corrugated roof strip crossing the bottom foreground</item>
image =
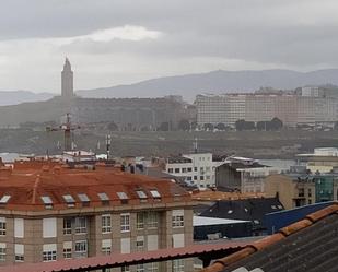
<svg viewBox="0 0 338 272">
<path fill-rule="evenodd" d="M 124 264 L 145 263 L 173 260 L 179 258 L 198 257 L 202 253 L 213 253 L 228 249 L 241 249 L 247 241 L 226 241 L 222 244 L 190 245 L 183 248 L 166 248 L 154 251 L 135 252 L 128 255 L 113 253 L 110 256 L 91 257 L 84 259 L 62 260 L 55 262 L 25 263 L 0 268 L 0 272 L 57 272 L 100 269 L 105 265 L 121 267 Z M 24 265 L 24 267 L 23 267 Z M 23 269 L 24 268 L 24 269 Z"/>
</svg>

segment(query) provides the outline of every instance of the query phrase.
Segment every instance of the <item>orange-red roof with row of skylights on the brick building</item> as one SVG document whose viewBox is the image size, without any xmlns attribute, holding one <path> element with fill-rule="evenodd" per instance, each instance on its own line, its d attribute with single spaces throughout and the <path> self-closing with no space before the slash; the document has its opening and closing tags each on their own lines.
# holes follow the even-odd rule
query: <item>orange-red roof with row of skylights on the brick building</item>
<svg viewBox="0 0 338 272">
<path fill-rule="evenodd" d="M 45 204 L 40 197 L 49 197 L 53 210 L 69 209 L 62 196 L 71 194 L 75 200 L 74 208 L 82 208 L 79 193 L 85 193 L 91 208 L 103 205 L 97 193 L 105 192 L 112 205 L 120 205 L 117 192 L 128 196 L 129 204 L 139 204 L 140 199 L 136 193 L 142 189 L 148 203 L 158 203 L 159 199 L 152 197 L 150 190 L 156 189 L 161 194 L 161 203 L 190 201 L 190 194 L 176 184 L 154 179 L 148 176 L 133 175 L 120 172 L 114 167 L 96 167 L 94 170 L 70 169 L 55 162 L 24 162 L 15 164 L 11 170 L 0 169 L 0 199 L 11 196 L 5 204 L 8 210 L 42 211 Z"/>
</svg>

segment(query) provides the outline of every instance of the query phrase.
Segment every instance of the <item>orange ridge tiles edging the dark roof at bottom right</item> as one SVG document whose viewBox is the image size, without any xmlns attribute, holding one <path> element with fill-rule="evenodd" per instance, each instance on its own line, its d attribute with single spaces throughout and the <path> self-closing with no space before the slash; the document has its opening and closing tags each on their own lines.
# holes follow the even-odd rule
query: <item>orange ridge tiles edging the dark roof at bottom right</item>
<svg viewBox="0 0 338 272">
<path fill-rule="evenodd" d="M 260 251 L 267 248 L 268 246 L 271 246 L 284 239 L 285 237 L 298 233 L 299 230 L 310 227 L 316 222 L 331 214 L 338 214 L 337 201 L 325 209 L 322 209 L 319 211 L 306 215 L 303 220 L 299 222 L 295 222 L 287 227 L 281 228 L 278 233 L 273 235 L 254 241 L 253 244 L 245 246 L 245 248 L 241 249 L 237 252 L 234 252 L 230 256 L 215 260 L 211 265 L 201 270 L 201 272 L 221 272 L 224 268 L 229 267 L 230 264 L 233 264 L 234 262 L 237 262 L 257 251 Z"/>
</svg>

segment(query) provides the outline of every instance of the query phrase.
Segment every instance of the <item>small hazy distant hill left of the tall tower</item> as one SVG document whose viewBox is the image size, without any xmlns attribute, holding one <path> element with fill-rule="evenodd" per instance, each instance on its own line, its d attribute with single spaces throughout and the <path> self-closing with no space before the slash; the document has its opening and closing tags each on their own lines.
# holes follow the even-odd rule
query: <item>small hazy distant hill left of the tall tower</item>
<svg viewBox="0 0 338 272">
<path fill-rule="evenodd" d="M 0 91 L 0 106 L 18 105 L 25 102 L 42 102 L 53 97 L 49 93 L 33 93 L 30 91 Z"/>
</svg>

